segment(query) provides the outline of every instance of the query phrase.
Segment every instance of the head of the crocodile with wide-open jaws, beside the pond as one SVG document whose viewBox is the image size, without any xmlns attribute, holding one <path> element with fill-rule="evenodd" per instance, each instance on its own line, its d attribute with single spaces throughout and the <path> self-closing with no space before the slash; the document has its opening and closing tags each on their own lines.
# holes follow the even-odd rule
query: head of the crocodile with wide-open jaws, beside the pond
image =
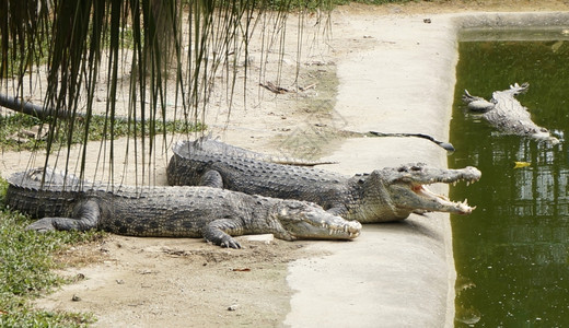
<svg viewBox="0 0 569 328">
<path fill-rule="evenodd" d="M 461 169 L 444 169 L 417 163 L 378 169 L 360 180 L 365 184 L 365 194 L 380 194 L 376 197 L 382 198 L 383 210 L 378 214 L 381 214 L 382 221 L 393 221 L 405 219 L 411 212 L 469 214 L 476 207 L 469 207 L 466 200 L 451 201 L 443 195 L 430 191 L 427 186 L 437 183 L 466 181 L 469 184 L 477 181 L 480 175 L 480 172 L 472 166 Z M 368 195 L 365 198 L 371 199 L 372 197 Z M 391 208 L 391 211 L 385 210 L 387 207 Z"/>
</svg>

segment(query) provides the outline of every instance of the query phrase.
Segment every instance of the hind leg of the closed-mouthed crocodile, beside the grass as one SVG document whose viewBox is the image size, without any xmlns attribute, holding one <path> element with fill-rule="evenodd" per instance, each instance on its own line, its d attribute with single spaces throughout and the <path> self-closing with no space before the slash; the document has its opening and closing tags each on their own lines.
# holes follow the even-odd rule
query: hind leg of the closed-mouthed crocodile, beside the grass
<svg viewBox="0 0 569 328">
<path fill-rule="evenodd" d="M 101 219 L 98 203 L 93 200 L 78 204 L 76 209 L 78 219 L 73 218 L 43 218 L 26 226 L 26 230 L 35 230 L 40 233 L 48 231 L 88 231 L 97 227 Z"/>
</svg>

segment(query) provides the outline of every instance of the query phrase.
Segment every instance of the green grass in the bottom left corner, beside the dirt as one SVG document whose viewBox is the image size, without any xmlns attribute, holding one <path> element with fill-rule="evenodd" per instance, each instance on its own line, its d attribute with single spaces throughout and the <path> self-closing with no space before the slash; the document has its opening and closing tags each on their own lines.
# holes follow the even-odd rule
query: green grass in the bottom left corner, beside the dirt
<svg viewBox="0 0 569 328">
<path fill-rule="evenodd" d="M 0 179 L 0 327 L 82 327 L 94 323 L 91 314 L 37 311 L 31 301 L 67 282 L 51 271 L 60 268 L 55 253 L 103 234 L 26 231 L 30 218 L 4 207 L 7 187 Z"/>
</svg>

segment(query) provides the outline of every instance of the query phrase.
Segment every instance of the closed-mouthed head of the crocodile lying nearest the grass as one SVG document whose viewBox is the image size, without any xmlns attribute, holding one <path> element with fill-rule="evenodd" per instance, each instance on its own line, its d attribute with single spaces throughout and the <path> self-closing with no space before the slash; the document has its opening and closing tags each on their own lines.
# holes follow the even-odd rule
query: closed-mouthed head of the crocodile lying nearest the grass
<svg viewBox="0 0 569 328">
<path fill-rule="evenodd" d="M 276 236 L 281 239 L 352 239 L 361 224 L 326 212 L 312 202 L 283 200 L 275 215 Z"/>
</svg>

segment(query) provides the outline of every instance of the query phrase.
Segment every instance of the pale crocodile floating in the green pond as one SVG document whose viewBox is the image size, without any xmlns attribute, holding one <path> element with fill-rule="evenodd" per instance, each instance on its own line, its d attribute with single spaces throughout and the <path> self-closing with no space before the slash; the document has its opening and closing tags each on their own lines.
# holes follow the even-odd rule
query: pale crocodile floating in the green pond
<svg viewBox="0 0 569 328">
<path fill-rule="evenodd" d="M 559 143 L 546 128 L 537 126 L 532 120 L 527 108 L 515 98 L 516 95 L 526 92 L 529 86 L 527 82 L 522 85 L 515 83 L 510 85 L 510 89 L 495 91 L 490 101 L 473 96 L 465 90 L 463 102 L 471 110 L 483 113 L 483 117 L 490 125 L 506 134 L 524 136 L 550 144 Z"/>
</svg>

